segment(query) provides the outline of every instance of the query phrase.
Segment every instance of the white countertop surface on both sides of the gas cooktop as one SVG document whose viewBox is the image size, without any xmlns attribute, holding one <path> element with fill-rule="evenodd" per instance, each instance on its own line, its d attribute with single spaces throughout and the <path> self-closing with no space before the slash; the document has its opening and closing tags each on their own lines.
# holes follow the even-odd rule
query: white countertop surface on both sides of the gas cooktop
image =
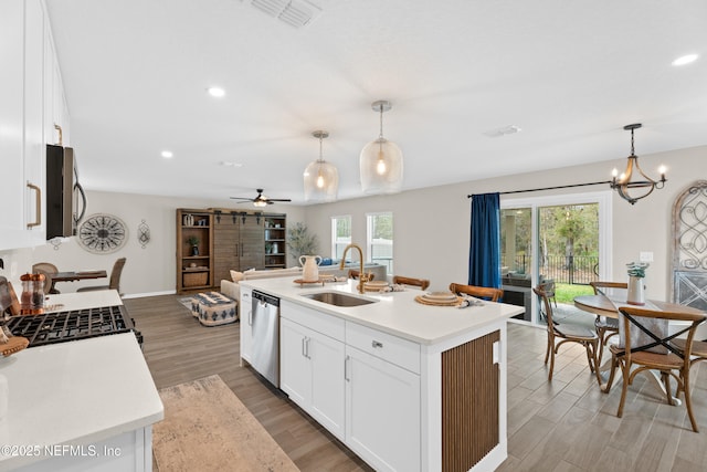
<svg viewBox="0 0 707 472">
<path fill-rule="evenodd" d="M 109 291 L 61 294 L 48 303 L 63 303 L 62 310 L 122 304 L 119 297 L 114 303 L 115 296 Z M 0 358 L 2 445 L 92 444 L 162 418 L 162 402 L 133 333 L 32 347 Z M 38 459 L 45 458 L 0 451 L 0 470 Z"/>
</svg>

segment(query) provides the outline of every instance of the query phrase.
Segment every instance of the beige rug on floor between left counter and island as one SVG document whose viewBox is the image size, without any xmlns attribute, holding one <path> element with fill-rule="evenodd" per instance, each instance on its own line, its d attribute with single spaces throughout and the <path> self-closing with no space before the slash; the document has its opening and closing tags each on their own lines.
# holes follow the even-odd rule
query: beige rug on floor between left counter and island
<svg viewBox="0 0 707 472">
<path fill-rule="evenodd" d="M 152 451 L 160 472 L 299 470 L 218 375 L 159 396 L 165 419 L 152 428 Z"/>
</svg>

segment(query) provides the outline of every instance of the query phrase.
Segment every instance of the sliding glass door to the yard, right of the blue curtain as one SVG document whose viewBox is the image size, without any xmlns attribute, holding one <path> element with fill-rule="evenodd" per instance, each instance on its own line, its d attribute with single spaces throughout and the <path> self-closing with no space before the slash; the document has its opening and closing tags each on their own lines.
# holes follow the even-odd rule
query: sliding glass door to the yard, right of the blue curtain
<svg viewBox="0 0 707 472">
<path fill-rule="evenodd" d="M 525 306 L 516 318 L 544 323 L 532 287 L 545 284 L 553 307 L 573 313 L 572 298 L 592 293 L 589 283 L 611 274 L 611 195 L 502 199 L 504 302 Z"/>
</svg>

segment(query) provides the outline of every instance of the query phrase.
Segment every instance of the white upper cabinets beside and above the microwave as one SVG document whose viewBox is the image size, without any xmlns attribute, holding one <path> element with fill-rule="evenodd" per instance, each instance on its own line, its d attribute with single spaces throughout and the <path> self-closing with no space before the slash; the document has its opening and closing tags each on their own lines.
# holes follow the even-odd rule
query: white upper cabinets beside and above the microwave
<svg viewBox="0 0 707 472">
<path fill-rule="evenodd" d="M 57 102 L 66 128 L 68 114 L 43 0 L 0 2 L 0 44 L 1 251 L 45 242 L 49 123 Z"/>
</svg>

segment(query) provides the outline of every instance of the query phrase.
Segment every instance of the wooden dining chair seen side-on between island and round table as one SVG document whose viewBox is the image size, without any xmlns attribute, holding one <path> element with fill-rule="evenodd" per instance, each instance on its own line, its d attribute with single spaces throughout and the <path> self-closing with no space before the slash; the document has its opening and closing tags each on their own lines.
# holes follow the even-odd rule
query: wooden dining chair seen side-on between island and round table
<svg viewBox="0 0 707 472">
<path fill-rule="evenodd" d="M 590 371 L 594 373 L 594 377 L 597 377 L 597 384 L 601 386 L 601 378 L 599 377 L 599 364 L 597 363 L 597 349 L 599 348 L 599 337 L 597 336 L 597 333 L 584 326 L 572 325 L 569 323 L 556 323 L 552 317 L 552 304 L 550 303 L 550 298 L 548 297 L 547 292 L 542 290 L 541 285 L 532 287 L 532 292 L 538 295 L 538 298 L 542 303 L 542 310 L 545 310 L 545 316 L 547 317 L 548 322 L 548 345 L 545 350 L 545 364 L 548 363 L 548 358 L 550 359 L 548 381 L 552 380 L 555 356 L 557 355 L 560 346 L 566 343 L 577 343 L 581 344 L 582 346 L 584 346 L 584 349 L 587 349 L 587 360 L 589 363 L 589 369 Z"/>
</svg>

